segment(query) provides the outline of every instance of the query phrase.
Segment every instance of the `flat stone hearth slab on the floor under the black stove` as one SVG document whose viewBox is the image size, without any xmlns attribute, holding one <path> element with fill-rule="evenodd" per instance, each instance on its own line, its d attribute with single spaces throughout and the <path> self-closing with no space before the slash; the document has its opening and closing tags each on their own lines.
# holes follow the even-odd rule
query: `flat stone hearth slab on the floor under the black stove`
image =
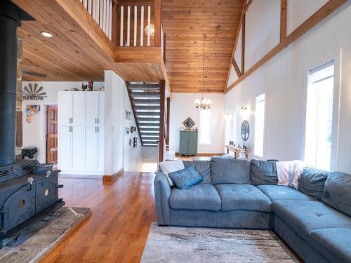
<svg viewBox="0 0 351 263">
<path fill-rule="evenodd" d="M 89 208 L 62 207 L 24 231 L 11 247 L 0 250 L 1 263 L 37 262 L 91 214 Z"/>
</svg>

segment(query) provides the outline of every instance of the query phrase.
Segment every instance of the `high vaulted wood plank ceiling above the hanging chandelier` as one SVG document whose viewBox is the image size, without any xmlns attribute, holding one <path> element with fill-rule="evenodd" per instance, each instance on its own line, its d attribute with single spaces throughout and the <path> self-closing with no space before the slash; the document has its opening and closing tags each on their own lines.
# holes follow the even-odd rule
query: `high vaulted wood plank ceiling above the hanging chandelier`
<svg viewBox="0 0 351 263">
<path fill-rule="evenodd" d="M 166 69 L 172 92 L 223 93 L 243 4 L 243 0 L 162 1 Z M 221 29 L 213 39 L 217 25 Z"/>
</svg>

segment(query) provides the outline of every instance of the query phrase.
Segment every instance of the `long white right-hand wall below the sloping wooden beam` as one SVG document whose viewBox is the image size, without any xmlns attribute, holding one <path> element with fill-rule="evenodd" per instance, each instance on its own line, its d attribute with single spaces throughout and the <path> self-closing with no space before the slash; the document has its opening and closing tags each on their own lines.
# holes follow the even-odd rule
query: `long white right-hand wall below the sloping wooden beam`
<svg viewBox="0 0 351 263">
<path fill-rule="evenodd" d="M 302 159 L 305 137 L 305 89 L 307 72 L 331 59 L 336 60 L 336 86 L 340 83 L 340 102 L 334 112 L 339 120 L 336 135 L 337 149 L 333 156 L 333 170 L 351 173 L 351 7 L 307 32 L 301 39 L 283 50 L 225 95 L 225 110 L 233 104 L 246 105 L 246 117 L 251 124 L 247 146 L 253 149 L 254 110 L 256 94 L 266 91 L 265 159 Z M 342 8 L 341 8 L 342 9 Z M 338 82 L 338 83 L 337 83 Z M 239 123 L 244 119 L 241 116 Z"/>
</svg>

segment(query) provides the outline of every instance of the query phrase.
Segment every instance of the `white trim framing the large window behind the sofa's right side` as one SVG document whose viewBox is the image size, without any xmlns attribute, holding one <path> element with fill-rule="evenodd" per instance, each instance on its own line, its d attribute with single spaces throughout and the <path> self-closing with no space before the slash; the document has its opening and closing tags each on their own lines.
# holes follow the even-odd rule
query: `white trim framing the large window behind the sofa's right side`
<svg viewBox="0 0 351 263">
<path fill-rule="evenodd" d="M 306 140 L 306 114 L 307 114 L 307 89 L 308 75 L 311 69 L 319 67 L 328 61 L 334 60 L 334 93 L 333 93 L 333 124 L 331 130 L 331 164 L 330 170 L 338 170 L 338 146 L 339 146 L 339 123 L 340 123 L 340 81 L 341 81 L 341 60 L 343 50 L 340 48 L 330 54 L 325 55 L 319 60 L 305 65 L 304 67 L 304 84 L 303 84 L 303 120 L 301 125 L 301 160 L 305 159 L 305 140 Z"/>
</svg>

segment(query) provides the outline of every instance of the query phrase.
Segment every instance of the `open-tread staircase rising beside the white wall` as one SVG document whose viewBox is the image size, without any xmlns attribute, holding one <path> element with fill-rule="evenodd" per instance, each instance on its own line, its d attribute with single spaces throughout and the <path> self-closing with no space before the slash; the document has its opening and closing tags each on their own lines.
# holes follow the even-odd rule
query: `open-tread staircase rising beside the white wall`
<svg viewBox="0 0 351 263">
<path fill-rule="evenodd" d="M 141 144 L 157 147 L 160 130 L 159 83 L 126 82 L 126 87 Z"/>
</svg>

